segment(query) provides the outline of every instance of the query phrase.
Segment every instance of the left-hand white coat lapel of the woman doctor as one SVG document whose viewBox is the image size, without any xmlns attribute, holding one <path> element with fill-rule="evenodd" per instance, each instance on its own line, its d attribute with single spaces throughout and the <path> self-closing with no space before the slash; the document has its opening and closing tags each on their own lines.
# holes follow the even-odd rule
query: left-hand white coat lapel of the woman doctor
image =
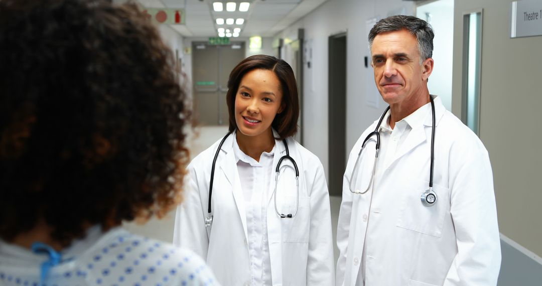
<svg viewBox="0 0 542 286">
<path fill-rule="evenodd" d="M 241 179 L 239 178 L 239 172 L 237 172 L 237 162 L 235 161 L 235 154 L 233 150 L 233 136 L 230 136 L 222 145 L 222 150 L 226 152 L 225 160 L 221 160 L 220 168 L 224 172 L 225 177 L 231 184 L 231 192 L 233 193 L 235 204 L 237 205 L 237 211 L 243 224 L 244 237 L 248 239 L 247 235 L 247 212 L 244 206 L 243 190 L 241 189 Z M 218 189 L 218 188 L 217 188 Z"/>
</svg>

